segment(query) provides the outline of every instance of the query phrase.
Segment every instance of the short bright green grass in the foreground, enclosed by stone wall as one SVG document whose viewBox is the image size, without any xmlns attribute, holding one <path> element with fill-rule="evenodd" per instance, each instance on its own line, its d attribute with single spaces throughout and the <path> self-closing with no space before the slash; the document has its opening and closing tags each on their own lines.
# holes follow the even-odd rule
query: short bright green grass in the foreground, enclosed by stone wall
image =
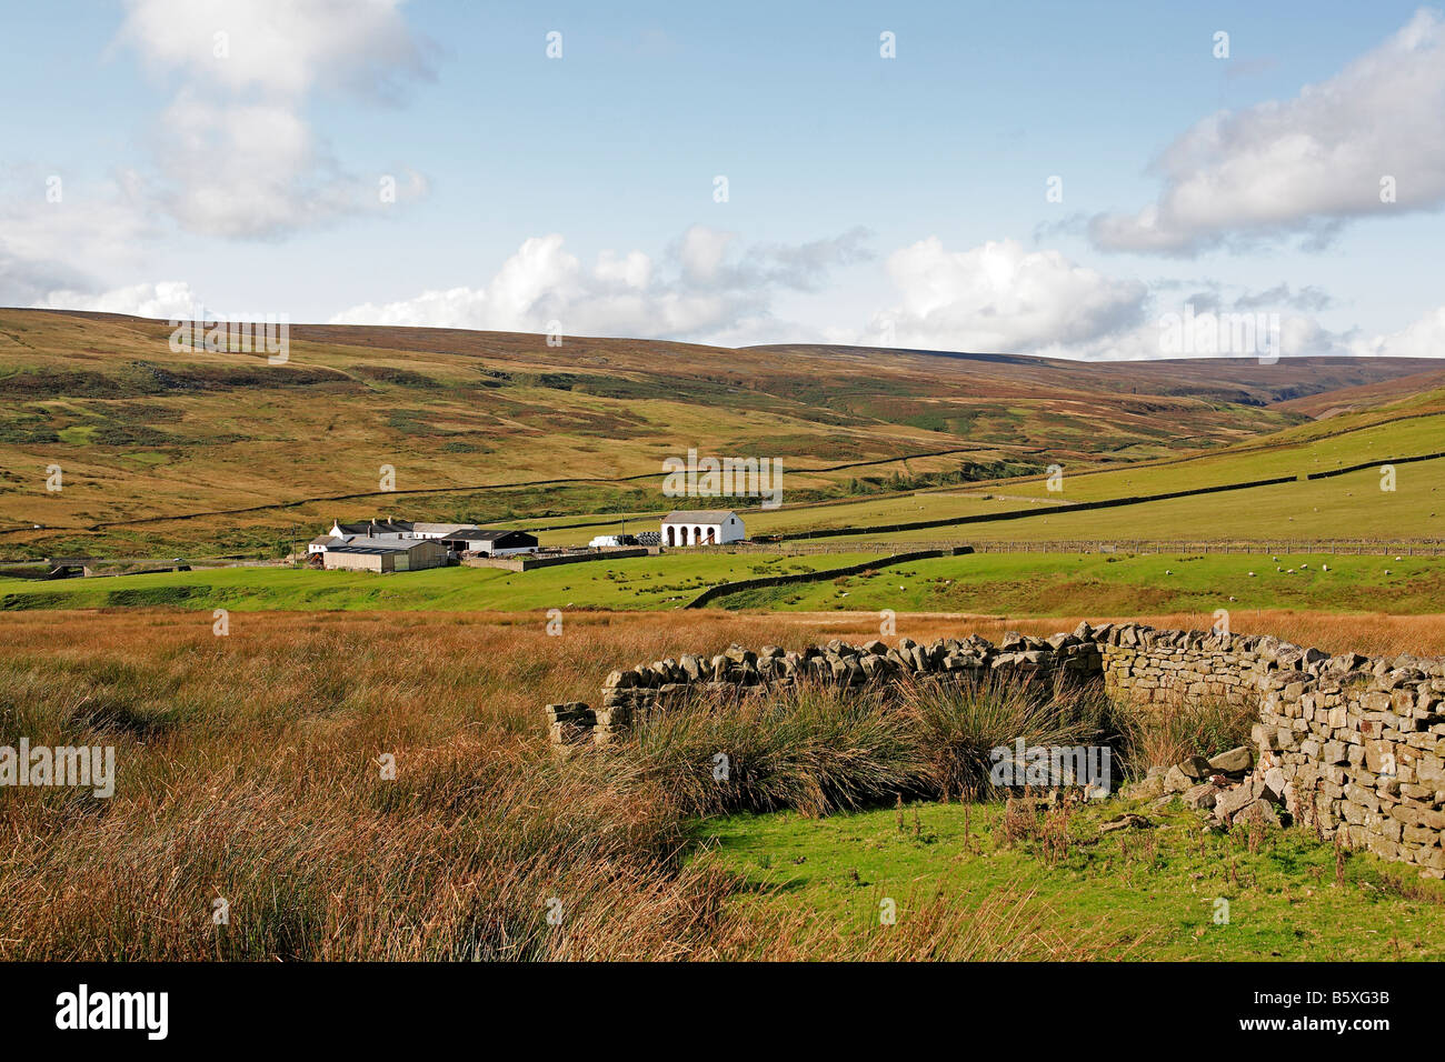
<svg viewBox="0 0 1445 1062">
<path fill-rule="evenodd" d="M 975 909 L 1000 892 L 1030 890 L 1065 936 L 1097 939 L 1134 959 L 1441 959 L 1445 889 L 1407 868 L 1335 852 L 1302 831 L 1270 829 L 1256 852 L 1243 828 L 1205 835 L 1201 818 L 1143 811 L 1157 826 L 1100 835 L 1126 805 L 1107 800 L 1069 822 L 1068 854 L 1038 839 L 1003 842 L 1001 805 L 919 803 L 811 819 L 795 812 L 705 822 L 698 857 L 746 878 L 733 903 L 767 918 L 831 919 L 841 935 L 876 932 L 880 905 L 902 926 L 938 896 Z M 1055 850 L 1056 851 L 1056 850 Z M 1228 900 L 1228 923 L 1215 922 Z"/>
</svg>

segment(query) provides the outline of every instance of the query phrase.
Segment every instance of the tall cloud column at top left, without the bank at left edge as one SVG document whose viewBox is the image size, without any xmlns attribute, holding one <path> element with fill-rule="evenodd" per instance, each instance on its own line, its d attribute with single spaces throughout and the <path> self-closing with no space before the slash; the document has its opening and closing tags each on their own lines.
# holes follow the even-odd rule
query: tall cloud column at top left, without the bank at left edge
<svg viewBox="0 0 1445 1062">
<path fill-rule="evenodd" d="M 158 202 L 184 228 L 273 237 L 380 204 L 305 117 L 315 92 L 396 101 L 432 77 L 400 0 L 130 0 L 117 45 L 175 94 L 152 133 Z M 396 199 L 425 192 L 407 170 Z"/>
</svg>

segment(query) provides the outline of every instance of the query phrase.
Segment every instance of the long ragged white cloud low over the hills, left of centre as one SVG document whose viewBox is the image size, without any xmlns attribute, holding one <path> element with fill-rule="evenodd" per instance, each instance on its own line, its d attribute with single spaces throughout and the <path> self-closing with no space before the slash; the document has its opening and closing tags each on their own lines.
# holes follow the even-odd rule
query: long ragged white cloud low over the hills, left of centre
<svg viewBox="0 0 1445 1062">
<path fill-rule="evenodd" d="M 805 244 L 741 247 L 734 233 L 694 225 L 660 260 L 604 251 L 587 266 L 561 234 L 526 240 L 486 285 L 363 303 L 331 324 L 420 325 L 572 335 L 737 341 L 772 318 L 779 290 L 815 290 L 835 266 L 868 256 L 853 230 Z M 556 325 L 553 325 L 556 322 Z"/>
</svg>

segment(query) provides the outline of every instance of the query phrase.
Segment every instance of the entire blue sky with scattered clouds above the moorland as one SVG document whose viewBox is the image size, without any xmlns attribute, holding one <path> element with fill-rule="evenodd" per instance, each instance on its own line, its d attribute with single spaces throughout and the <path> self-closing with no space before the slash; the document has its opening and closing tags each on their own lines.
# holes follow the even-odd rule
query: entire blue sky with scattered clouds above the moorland
<svg viewBox="0 0 1445 1062">
<path fill-rule="evenodd" d="M 0 1 L 6 306 L 1445 354 L 1429 6 Z"/>
</svg>

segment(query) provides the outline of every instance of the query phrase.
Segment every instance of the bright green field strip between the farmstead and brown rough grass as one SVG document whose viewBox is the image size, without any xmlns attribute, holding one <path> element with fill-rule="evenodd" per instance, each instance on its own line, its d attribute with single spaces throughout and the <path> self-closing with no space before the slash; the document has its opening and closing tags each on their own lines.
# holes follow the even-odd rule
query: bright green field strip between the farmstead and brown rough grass
<svg viewBox="0 0 1445 1062">
<path fill-rule="evenodd" d="M 223 568 L 52 582 L 0 578 L 0 610 L 176 605 L 237 610 L 669 610 L 759 575 L 845 568 L 866 553 L 663 553 L 507 572 Z M 972 553 L 819 582 L 740 591 L 718 608 L 1126 616 L 1300 608 L 1445 610 L 1445 558 L 1246 553 Z M 1329 565 L 1329 571 L 1324 566 Z M 1285 571 L 1276 571 L 1276 568 Z M 1290 574 L 1289 569 L 1295 572 Z M 1251 578 L 1248 572 L 1256 572 Z"/>
</svg>

